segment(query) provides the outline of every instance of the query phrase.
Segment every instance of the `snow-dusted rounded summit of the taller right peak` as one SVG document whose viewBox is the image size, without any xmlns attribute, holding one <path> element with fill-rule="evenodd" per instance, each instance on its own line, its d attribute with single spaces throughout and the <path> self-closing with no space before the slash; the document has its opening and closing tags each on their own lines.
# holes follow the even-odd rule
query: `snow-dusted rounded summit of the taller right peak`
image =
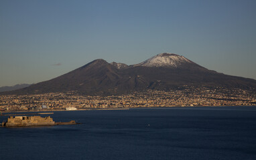
<svg viewBox="0 0 256 160">
<path fill-rule="evenodd" d="M 193 62 L 181 55 L 176 55 L 173 53 L 161 53 L 133 66 L 177 68 L 178 66 L 187 63 Z"/>
</svg>

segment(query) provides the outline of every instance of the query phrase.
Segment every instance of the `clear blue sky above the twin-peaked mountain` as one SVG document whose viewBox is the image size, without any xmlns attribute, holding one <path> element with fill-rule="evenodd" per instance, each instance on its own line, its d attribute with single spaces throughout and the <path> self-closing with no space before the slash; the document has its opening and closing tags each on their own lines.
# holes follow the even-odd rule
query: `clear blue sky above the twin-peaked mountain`
<svg viewBox="0 0 256 160">
<path fill-rule="evenodd" d="M 176 53 L 256 79 L 256 1 L 0 1 L 0 86 Z"/>
</svg>

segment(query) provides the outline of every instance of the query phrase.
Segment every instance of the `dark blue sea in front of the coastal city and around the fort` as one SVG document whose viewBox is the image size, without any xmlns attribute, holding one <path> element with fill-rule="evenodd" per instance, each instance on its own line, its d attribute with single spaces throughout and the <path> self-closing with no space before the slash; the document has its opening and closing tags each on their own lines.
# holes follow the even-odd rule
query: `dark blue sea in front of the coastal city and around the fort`
<svg viewBox="0 0 256 160">
<path fill-rule="evenodd" d="M 0 159 L 256 159 L 256 107 L 56 111 L 51 117 L 82 124 L 0 128 Z"/>
</svg>

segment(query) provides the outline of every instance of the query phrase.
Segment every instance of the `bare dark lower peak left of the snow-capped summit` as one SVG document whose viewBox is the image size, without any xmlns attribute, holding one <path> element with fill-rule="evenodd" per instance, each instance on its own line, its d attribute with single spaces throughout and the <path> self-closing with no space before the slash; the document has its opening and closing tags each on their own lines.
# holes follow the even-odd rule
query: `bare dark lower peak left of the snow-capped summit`
<svg viewBox="0 0 256 160">
<path fill-rule="evenodd" d="M 103 59 L 97 59 L 60 77 L 31 85 L 23 91 L 28 93 L 85 91 L 90 93 L 114 87 L 119 78 L 117 69 L 113 65 Z"/>
</svg>

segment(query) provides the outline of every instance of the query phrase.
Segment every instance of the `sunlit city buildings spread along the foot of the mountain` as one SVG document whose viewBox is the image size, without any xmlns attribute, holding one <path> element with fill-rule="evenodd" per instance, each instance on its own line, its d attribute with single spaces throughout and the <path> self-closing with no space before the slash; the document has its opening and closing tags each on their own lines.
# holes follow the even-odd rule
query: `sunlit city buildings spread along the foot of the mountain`
<svg viewBox="0 0 256 160">
<path fill-rule="evenodd" d="M 256 105 L 255 89 L 182 86 L 174 91 L 133 92 L 127 95 L 88 96 L 76 91 L 35 95 L 1 95 L 0 111 L 121 109 L 133 107 L 241 106 Z"/>
</svg>

